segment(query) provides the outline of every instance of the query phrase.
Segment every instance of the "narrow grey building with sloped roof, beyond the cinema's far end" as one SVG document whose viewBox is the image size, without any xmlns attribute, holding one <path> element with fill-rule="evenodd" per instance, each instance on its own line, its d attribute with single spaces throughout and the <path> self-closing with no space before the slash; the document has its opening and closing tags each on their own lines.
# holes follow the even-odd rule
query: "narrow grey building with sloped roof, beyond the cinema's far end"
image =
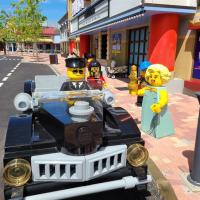
<svg viewBox="0 0 200 200">
<path fill-rule="evenodd" d="M 69 29 L 68 29 L 68 14 L 66 13 L 59 21 L 58 24 L 60 25 L 60 49 L 62 54 L 68 54 L 68 36 L 69 36 Z"/>
</svg>

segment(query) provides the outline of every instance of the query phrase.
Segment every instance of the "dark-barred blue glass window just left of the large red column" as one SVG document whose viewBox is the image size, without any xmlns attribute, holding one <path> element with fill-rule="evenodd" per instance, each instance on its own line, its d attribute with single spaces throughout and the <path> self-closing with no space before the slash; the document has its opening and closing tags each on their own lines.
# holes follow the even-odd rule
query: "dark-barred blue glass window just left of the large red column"
<svg viewBox="0 0 200 200">
<path fill-rule="evenodd" d="M 148 37 L 148 27 L 130 30 L 129 66 L 139 66 L 147 59 Z"/>
</svg>

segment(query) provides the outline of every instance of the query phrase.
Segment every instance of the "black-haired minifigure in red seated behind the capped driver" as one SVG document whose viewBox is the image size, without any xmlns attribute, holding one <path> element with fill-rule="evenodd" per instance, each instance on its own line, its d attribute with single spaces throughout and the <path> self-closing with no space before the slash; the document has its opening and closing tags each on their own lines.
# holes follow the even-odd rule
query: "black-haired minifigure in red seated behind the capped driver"
<svg viewBox="0 0 200 200">
<path fill-rule="evenodd" d="M 88 66 L 87 81 L 93 89 L 107 87 L 106 81 L 102 75 L 101 64 L 97 60 L 93 60 Z"/>
</svg>

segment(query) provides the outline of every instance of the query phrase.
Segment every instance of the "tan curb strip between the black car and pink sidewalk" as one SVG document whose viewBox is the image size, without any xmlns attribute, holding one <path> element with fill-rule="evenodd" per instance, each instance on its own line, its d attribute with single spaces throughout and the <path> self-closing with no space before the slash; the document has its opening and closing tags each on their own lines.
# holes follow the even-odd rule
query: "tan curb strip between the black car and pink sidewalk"
<svg viewBox="0 0 200 200">
<path fill-rule="evenodd" d="M 160 169 L 156 166 L 156 164 L 153 162 L 153 160 L 149 159 L 147 165 L 150 174 L 152 175 L 157 185 L 161 197 L 164 200 L 178 200 L 170 182 L 164 177 L 164 175 L 162 174 Z"/>
</svg>

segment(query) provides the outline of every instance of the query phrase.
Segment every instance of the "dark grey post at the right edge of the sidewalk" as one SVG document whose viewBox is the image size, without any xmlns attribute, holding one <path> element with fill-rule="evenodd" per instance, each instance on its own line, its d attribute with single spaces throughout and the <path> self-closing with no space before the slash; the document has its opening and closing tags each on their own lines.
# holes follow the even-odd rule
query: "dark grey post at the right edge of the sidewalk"
<svg viewBox="0 0 200 200">
<path fill-rule="evenodd" d="M 196 93 L 199 104 L 200 104 L 200 92 Z M 195 150 L 194 150 L 194 159 L 193 166 L 190 175 L 188 176 L 188 181 L 193 185 L 200 186 L 200 110 L 199 110 L 199 119 L 197 126 Z"/>
</svg>

